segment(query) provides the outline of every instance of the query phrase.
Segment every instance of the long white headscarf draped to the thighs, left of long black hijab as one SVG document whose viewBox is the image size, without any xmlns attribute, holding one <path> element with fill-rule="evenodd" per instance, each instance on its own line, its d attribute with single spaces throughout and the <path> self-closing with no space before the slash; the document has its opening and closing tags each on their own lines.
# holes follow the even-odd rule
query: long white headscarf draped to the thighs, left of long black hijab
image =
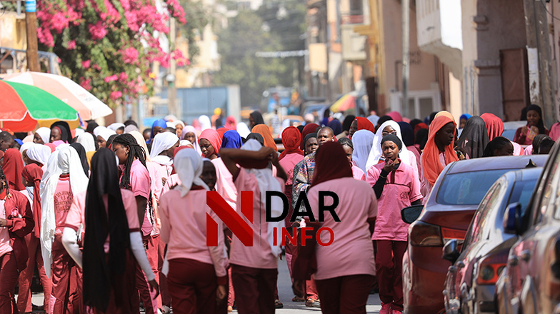
<svg viewBox="0 0 560 314">
<path fill-rule="evenodd" d="M 86 177 L 84 168 L 81 166 L 78 152 L 74 148 L 65 147 L 51 155 L 47 170 L 41 180 L 41 253 L 45 272 L 49 278 L 51 277 L 52 243 L 56 230 L 54 192 L 62 173 L 70 174 L 70 188 L 74 196 L 86 191 L 89 183 L 89 178 Z"/>
</svg>

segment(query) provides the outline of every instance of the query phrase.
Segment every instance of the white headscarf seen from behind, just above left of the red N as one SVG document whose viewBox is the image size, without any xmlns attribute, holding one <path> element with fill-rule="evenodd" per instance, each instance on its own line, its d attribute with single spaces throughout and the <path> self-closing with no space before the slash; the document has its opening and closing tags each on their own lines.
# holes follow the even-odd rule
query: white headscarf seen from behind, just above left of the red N
<svg viewBox="0 0 560 314">
<path fill-rule="evenodd" d="M 210 190 L 200 178 L 204 161 L 194 149 L 181 149 L 175 156 L 174 168 L 179 180 L 181 180 L 181 185 L 176 187 L 181 192 L 181 197 L 186 196 L 186 193 L 191 191 L 193 184 L 203 187 L 206 191 Z"/>
</svg>

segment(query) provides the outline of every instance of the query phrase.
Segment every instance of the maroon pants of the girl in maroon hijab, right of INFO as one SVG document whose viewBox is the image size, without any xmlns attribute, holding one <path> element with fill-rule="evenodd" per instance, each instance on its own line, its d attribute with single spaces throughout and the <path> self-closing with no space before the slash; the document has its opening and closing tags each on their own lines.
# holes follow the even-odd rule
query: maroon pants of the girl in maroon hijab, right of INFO
<svg viewBox="0 0 560 314">
<path fill-rule="evenodd" d="M 316 280 L 323 314 L 366 313 L 372 275 L 349 275 Z"/>
</svg>

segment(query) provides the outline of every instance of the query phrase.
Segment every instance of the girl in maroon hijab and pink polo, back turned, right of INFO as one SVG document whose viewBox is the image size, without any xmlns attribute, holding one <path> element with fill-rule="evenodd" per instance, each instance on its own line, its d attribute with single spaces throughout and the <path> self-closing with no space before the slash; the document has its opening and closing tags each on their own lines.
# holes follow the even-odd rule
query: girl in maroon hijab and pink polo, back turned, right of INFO
<svg viewBox="0 0 560 314">
<path fill-rule="evenodd" d="M 338 220 L 331 214 L 324 216 L 323 223 L 306 218 L 307 226 L 331 228 L 336 235 L 329 246 L 315 245 L 313 278 L 321 310 L 324 313 L 365 313 L 375 273 L 369 223 L 376 217 L 377 201 L 369 184 L 352 178 L 346 153 L 339 143 L 326 142 L 316 152 L 316 171 L 307 191 L 315 217 L 323 201 L 321 191 L 333 191 L 339 197 Z M 321 233 L 321 241 L 331 241 L 330 237 L 330 233 Z"/>
</svg>

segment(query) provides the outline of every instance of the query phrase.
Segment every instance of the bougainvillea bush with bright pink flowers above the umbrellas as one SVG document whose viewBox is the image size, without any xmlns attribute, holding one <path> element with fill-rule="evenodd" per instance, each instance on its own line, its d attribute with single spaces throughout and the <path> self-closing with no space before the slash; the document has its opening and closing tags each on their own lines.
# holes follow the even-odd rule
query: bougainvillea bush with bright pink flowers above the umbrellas
<svg viewBox="0 0 560 314">
<path fill-rule="evenodd" d="M 154 61 L 188 62 L 161 49 L 170 16 L 186 23 L 179 0 L 38 0 L 37 37 L 41 50 L 59 56 L 64 76 L 116 106 L 151 94 Z"/>
</svg>

